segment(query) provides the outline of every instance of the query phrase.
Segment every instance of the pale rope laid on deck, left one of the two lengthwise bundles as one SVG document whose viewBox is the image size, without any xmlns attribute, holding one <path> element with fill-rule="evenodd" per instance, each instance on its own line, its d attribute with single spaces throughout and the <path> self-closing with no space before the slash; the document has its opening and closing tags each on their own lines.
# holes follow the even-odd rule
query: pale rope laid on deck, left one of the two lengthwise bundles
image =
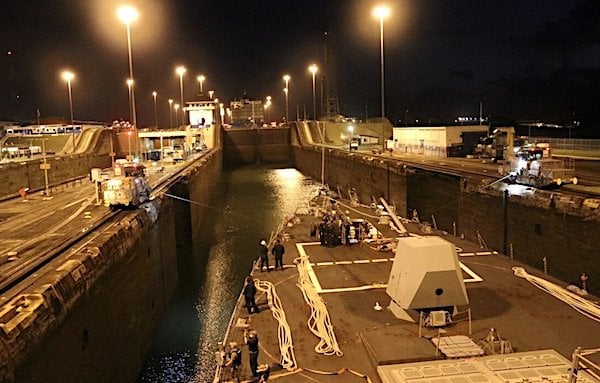
<svg viewBox="0 0 600 383">
<path fill-rule="evenodd" d="M 277 320 L 277 337 L 279 338 L 279 350 L 281 352 L 281 366 L 288 370 L 297 367 L 296 356 L 294 355 L 294 343 L 292 341 L 292 330 L 285 317 L 285 311 L 281 306 L 281 300 L 277 295 L 275 286 L 269 281 L 254 280 L 254 285 L 259 291 L 267 295 L 269 308 L 273 317 Z"/>
</svg>

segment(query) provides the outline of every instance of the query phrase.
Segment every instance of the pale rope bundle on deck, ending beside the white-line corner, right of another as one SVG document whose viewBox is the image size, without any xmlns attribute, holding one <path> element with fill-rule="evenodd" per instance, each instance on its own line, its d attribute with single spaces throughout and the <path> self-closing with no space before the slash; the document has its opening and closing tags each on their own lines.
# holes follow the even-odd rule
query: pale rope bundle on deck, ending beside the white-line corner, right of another
<svg viewBox="0 0 600 383">
<path fill-rule="evenodd" d="M 344 355 L 335 337 L 325 302 L 323 302 L 323 299 L 321 299 L 310 280 L 308 272 L 310 262 L 308 257 L 296 258 L 294 259 L 294 263 L 298 269 L 297 286 L 302 291 L 304 300 L 310 306 L 311 313 L 308 320 L 308 328 L 320 339 L 319 343 L 315 346 L 315 352 L 323 355 Z"/>
</svg>

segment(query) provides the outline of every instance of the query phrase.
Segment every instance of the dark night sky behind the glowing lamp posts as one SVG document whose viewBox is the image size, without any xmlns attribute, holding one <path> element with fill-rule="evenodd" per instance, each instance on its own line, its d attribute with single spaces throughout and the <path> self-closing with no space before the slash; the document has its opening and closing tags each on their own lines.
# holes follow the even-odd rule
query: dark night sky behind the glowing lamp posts
<svg viewBox="0 0 600 383">
<path fill-rule="evenodd" d="M 312 80 L 329 58 L 329 83 L 347 116 L 380 114 L 379 22 L 370 0 L 132 0 L 134 77 L 140 126 L 168 125 L 168 98 L 185 100 L 196 77 L 222 100 L 273 97 L 283 116 L 312 110 Z M 116 0 L 4 0 L 0 3 L 0 119 L 68 118 L 71 69 L 75 119 L 127 119 L 125 26 Z M 385 21 L 386 115 L 448 121 L 484 115 L 598 122 L 600 1 L 392 0 Z M 328 32 L 325 38 L 324 33 Z M 319 85 L 317 85 L 319 86 Z M 317 92 L 320 94 L 320 91 Z M 318 101 L 317 101 L 318 102 Z M 406 111 L 408 110 L 408 113 Z"/>
</svg>

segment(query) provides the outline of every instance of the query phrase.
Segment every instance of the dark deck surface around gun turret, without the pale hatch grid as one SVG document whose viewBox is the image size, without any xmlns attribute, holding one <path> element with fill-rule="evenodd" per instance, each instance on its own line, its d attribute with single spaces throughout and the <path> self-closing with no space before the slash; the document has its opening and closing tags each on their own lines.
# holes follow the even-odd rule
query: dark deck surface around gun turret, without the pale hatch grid
<svg viewBox="0 0 600 383">
<path fill-rule="evenodd" d="M 374 214 L 370 210 L 364 211 Z M 368 219 L 373 224 L 377 221 L 360 217 L 354 211 L 347 215 L 351 218 Z M 382 382 L 377 373 L 378 366 L 442 358 L 439 353 L 436 356 L 436 348 L 430 340 L 442 335 L 437 329 L 423 328 L 422 337 L 419 338 L 418 324 L 401 321 L 387 309 L 390 298 L 380 284 L 387 283 L 393 253 L 375 251 L 365 243 L 321 247 L 318 242 L 315 243 L 314 238 L 309 238 L 309 226 L 311 222 L 318 222 L 319 218 L 306 215 L 298 217 L 300 222 L 288 228 L 290 239 L 284 242 L 285 270 L 262 273 L 254 270 L 253 275 L 255 279 L 267 280 L 275 285 L 291 329 L 299 369 L 290 372 L 278 366 L 280 351 L 277 322 L 269 310 L 264 294 L 257 295 L 260 313 L 249 316 L 245 307 L 240 304 L 234 313 L 235 321 L 243 318 L 258 332 L 261 347 L 259 363 L 271 366 L 270 380 L 277 377 L 277 382 L 352 383 L 365 382 L 364 377 L 358 376 L 365 375 L 373 382 Z M 389 226 L 376 226 L 385 237 L 397 236 Z M 412 223 L 407 227 L 419 235 L 426 231 Z M 588 319 L 528 281 L 514 276 L 512 267 L 523 266 L 530 274 L 552 280 L 550 277 L 451 235 L 444 235 L 444 238 L 457 245 L 460 262 L 473 272 L 463 272 L 463 276 L 472 312 L 471 338 L 475 343 L 484 339 L 490 328 L 495 328 L 502 339 L 510 341 L 515 352 L 553 349 L 570 359 L 576 347 L 591 349 L 600 346 L 600 323 Z M 299 256 L 300 249 L 310 257 L 314 276 L 320 285 L 319 295 L 329 311 L 343 356 L 324 356 L 314 351 L 318 339 L 307 327 L 310 308 L 296 286 L 298 271 L 293 260 Z M 274 262 L 271 260 L 270 263 Z M 366 288 L 374 285 L 379 287 Z M 357 289 L 358 287 L 363 290 Z M 376 302 L 384 309 L 374 310 Z M 466 318 L 466 315 L 455 318 L 451 325 L 444 328 L 443 335 L 469 336 L 469 322 Z M 234 326 L 230 329 L 227 343 L 235 340 L 243 344 L 242 334 L 242 329 Z M 245 346 L 242 350 L 241 380 L 252 381 L 248 351 Z M 337 375 L 337 372 L 345 370 L 355 371 L 357 375 L 350 372 Z M 329 373 L 331 374 L 328 375 Z M 222 381 L 228 381 L 228 376 L 229 372 L 224 369 Z"/>
</svg>

